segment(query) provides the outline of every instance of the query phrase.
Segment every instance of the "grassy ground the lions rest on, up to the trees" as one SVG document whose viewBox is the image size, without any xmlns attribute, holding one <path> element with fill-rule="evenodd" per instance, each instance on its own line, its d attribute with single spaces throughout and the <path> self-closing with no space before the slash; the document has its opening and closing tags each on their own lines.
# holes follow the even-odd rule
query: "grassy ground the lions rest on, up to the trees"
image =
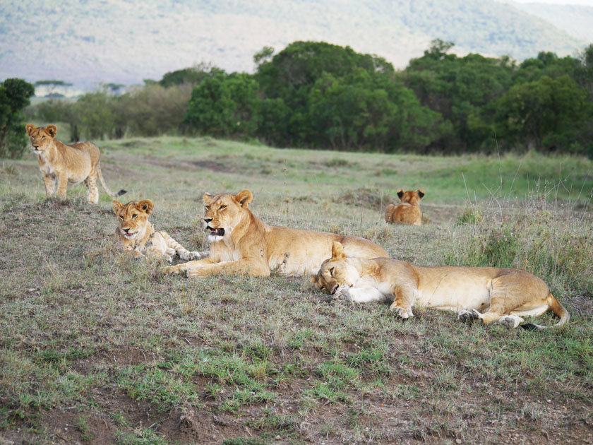
<svg viewBox="0 0 593 445">
<path fill-rule="evenodd" d="M 253 212 L 271 224 L 365 235 L 417 263 L 525 267 L 573 318 L 544 333 L 467 326 L 424 309 L 402 322 L 384 304 L 328 302 L 306 278 L 162 276 L 162 263 L 117 251 L 107 195 L 87 206 L 85 189 L 71 186 L 70 201 L 43 201 L 28 153 L 0 168 L 0 439 L 593 439 L 592 162 L 208 138 L 100 145 L 109 186 L 155 201 L 152 222 L 186 247 L 205 247 L 204 191 L 251 189 Z M 381 192 L 393 198 L 400 186 L 425 189 L 429 224 L 384 225 Z M 455 225 L 464 208 L 481 223 Z"/>
</svg>

